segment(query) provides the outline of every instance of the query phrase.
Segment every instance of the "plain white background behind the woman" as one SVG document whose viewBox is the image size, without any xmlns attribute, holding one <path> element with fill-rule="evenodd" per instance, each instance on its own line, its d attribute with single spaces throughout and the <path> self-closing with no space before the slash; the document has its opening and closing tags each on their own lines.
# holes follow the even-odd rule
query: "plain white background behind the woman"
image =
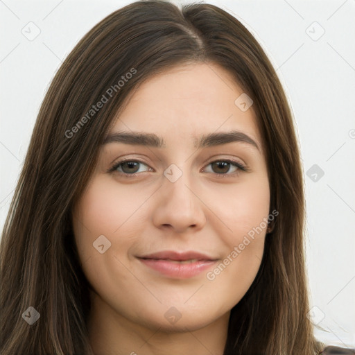
<svg viewBox="0 0 355 355">
<path fill-rule="evenodd" d="M 130 2 L 0 0 L 1 229 L 55 71 L 87 31 Z M 304 163 L 311 318 L 325 329 L 315 335 L 355 347 L 355 0 L 209 3 L 257 37 L 286 89 Z M 40 34 L 30 41 L 26 31 Z M 314 164 L 322 177 L 309 171 Z"/>
</svg>

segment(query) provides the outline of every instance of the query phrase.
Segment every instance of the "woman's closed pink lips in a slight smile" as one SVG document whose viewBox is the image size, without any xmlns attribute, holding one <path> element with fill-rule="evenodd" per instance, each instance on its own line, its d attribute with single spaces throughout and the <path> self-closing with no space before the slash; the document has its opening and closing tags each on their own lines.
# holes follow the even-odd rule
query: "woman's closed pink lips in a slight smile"
<svg viewBox="0 0 355 355">
<path fill-rule="evenodd" d="M 200 274 L 218 261 L 200 252 L 163 251 L 137 257 L 148 268 L 168 277 L 187 279 Z"/>
</svg>

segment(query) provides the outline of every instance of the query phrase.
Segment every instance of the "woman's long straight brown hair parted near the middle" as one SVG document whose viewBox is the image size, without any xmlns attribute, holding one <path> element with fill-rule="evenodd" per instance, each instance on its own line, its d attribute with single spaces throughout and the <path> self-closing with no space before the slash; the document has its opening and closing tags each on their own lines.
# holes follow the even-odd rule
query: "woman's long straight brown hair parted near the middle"
<svg viewBox="0 0 355 355">
<path fill-rule="evenodd" d="M 313 355 L 322 348 L 307 318 L 300 153 L 275 69 L 257 40 L 224 10 L 207 3 L 180 10 L 152 0 L 131 3 L 94 26 L 44 98 L 1 239 L 1 354 L 93 354 L 86 327 L 89 284 L 71 211 L 133 90 L 189 62 L 219 64 L 254 101 L 270 212 L 279 211 L 257 277 L 232 309 L 224 355 Z M 92 112 L 103 96 L 107 101 Z M 32 325 L 22 317 L 29 306 L 40 313 Z"/>
</svg>

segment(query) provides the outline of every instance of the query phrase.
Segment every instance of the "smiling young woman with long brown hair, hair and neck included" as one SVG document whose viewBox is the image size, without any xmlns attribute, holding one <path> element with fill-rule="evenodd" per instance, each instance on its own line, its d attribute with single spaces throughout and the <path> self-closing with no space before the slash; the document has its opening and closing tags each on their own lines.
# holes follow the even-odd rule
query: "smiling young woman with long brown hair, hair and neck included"
<svg viewBox="0 0 355 355">
<path fill-rule="evenodd" d="M 1 354 L 320 354 L 303 228 L 261 46 L 216 6 L 132 3 L 44 98 L 1 239 Z"/>
</svg>

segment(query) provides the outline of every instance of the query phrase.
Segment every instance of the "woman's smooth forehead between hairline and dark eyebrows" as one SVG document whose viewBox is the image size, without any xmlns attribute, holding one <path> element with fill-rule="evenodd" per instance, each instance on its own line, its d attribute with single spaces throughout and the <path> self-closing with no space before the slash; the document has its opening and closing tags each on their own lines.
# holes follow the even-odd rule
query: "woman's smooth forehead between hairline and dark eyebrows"
<svg viewBox="0 0 355 355">
<path fill-rule="evenodd" d="M 197 146 L 200 137 L 212 132 L 238 130 L 261 143 L 253 107 L 241 110 L 238 105 L 243 95 L 230 73 L 217 64 L 176 66 L 132 92 L 111 132 L 154 132 L 166 137 L 164 144 L 184 139 Z"/>
</svg>

